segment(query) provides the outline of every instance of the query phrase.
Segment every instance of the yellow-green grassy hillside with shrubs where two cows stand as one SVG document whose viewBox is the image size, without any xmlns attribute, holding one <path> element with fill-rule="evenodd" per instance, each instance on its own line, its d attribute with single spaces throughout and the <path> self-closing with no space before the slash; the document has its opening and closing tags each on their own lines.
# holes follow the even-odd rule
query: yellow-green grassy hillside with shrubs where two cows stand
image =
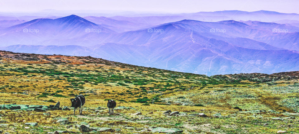
<svg viewBox="0 0 299 134">
<path fill-rule="evenodd" d="M 208 77 L 89 56 L 0 51 L 0 132 L 299 133 L 298 74 Z M 7 109 L 58 101 L 70 107 L 79 94 L 86 97 L 82 116 L 73 109 Z M 107 99 L 116 100 L 116 115 L 109 116 Z"/>
</svg>

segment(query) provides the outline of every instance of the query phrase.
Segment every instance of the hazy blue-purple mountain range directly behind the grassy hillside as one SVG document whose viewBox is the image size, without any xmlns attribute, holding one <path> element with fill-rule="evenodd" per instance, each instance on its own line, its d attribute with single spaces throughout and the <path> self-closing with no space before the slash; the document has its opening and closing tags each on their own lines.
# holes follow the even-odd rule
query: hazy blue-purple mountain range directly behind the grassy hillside
<svg viewBox="0 0 299 134">
<path fill-rule="evenodd" d="M 206 75 L 299 70 L 299 28 L 293 25 L 183 19 L 153 26 L 168 20 L 151 16 L 145 21 L 153 20 L 142 23 L 141 19 L 76 15 L 40 18 L 1 29 L 0 47 L 13 52 L 93 56 Z"/>
</svg>

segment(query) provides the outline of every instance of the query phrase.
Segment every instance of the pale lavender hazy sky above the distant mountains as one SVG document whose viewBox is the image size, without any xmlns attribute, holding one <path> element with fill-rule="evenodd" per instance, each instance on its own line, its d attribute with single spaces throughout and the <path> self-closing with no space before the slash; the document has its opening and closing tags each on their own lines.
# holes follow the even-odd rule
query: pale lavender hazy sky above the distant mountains
<svg viewBox="0 0 299 134">
<path fill-rule="evenodd" d="M 140 12 L 278 11 L 299 13 L 299 0 L 0 0 L 0 12 L 112 10 Z"/>
</svg>

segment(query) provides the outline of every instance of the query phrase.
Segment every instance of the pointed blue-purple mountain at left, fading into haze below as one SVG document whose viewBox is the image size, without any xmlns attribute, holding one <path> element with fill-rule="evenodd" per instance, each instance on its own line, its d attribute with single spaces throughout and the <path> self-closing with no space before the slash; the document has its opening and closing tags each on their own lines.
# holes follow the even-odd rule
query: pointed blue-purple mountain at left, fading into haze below
<svg viewBox="0 0 299 134">
<path fill-rule="evenodd" d="M 107 36 L 111 33 L 115 32 L 76 15 L 58 19 L 40 18 L 1 29 L 0 46 L 4 44 L 60 45 L 61 43 L 79 45 L 84 39 L 79 42 L 72 40 L 85 34 Z"/>
</svg>

